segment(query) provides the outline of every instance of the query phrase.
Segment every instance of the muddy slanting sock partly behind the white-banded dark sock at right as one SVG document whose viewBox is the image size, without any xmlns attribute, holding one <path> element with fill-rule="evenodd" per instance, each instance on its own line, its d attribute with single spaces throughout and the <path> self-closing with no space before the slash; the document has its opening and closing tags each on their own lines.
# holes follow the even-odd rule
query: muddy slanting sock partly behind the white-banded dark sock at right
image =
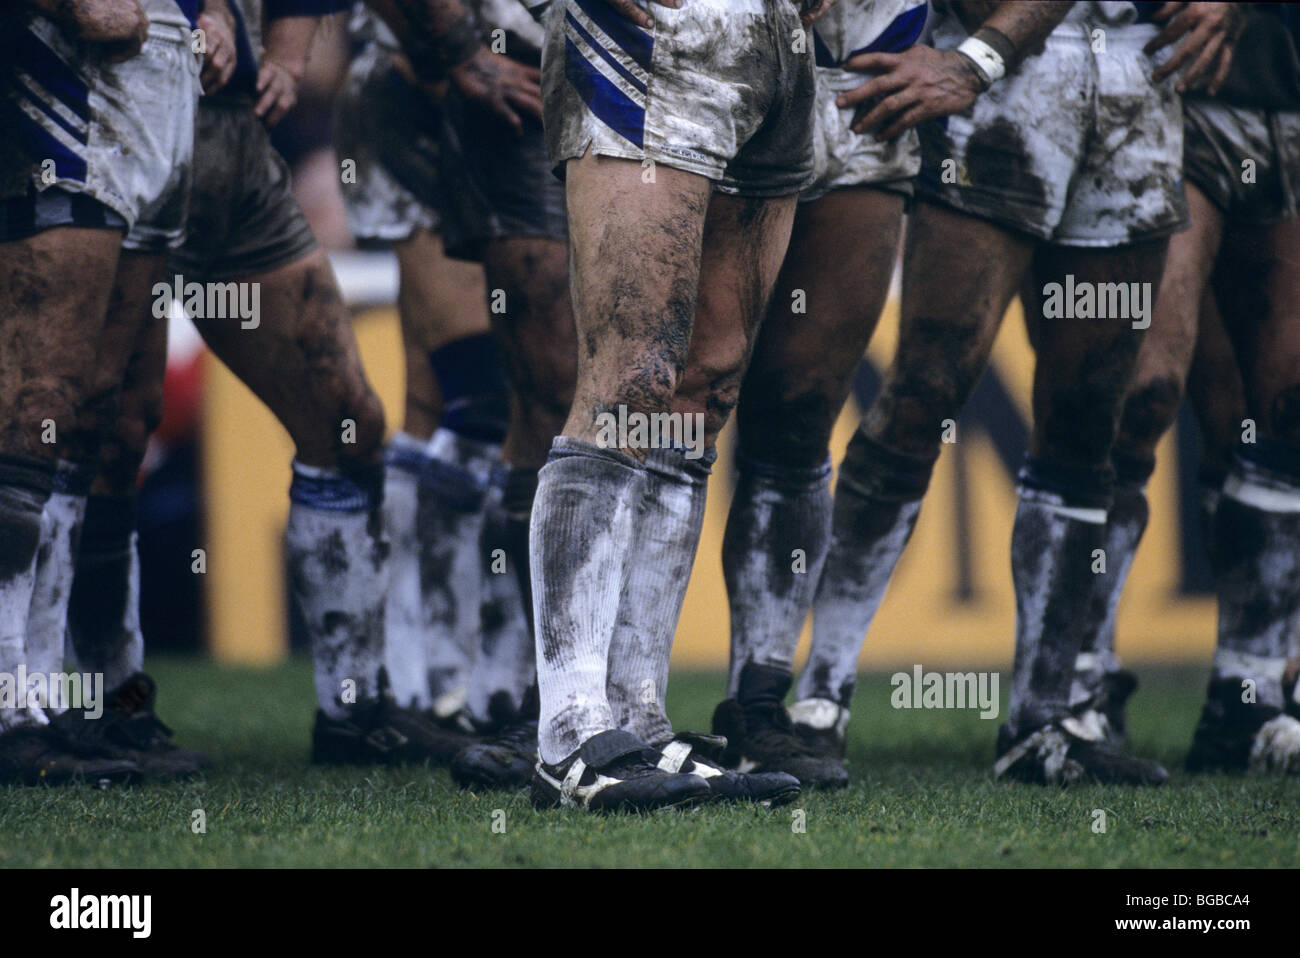
<svg viewBox="0 0 1300 958">
<path fill-rule="evenodd" d="M 1074 684 L 1070 706 L 1098 702 L 1105 692 L 1108 675 L 1119 671 L 1115 655 L 1115 616 L 1123 594 L 1128 571 L 1132 568 L 1138 543 L 1150 510 L 1147 507 L 1147 480 L 1156 469 L 1156 460 L 1135 460 L 1114 456 L 1115 490 L 1106 512 L 1106 532 L 1102 541 L 1106 567 L 1092 577 L 1092 598 L 1084 621 L 1083 647 L 1074 664 Z"/>
</svg>

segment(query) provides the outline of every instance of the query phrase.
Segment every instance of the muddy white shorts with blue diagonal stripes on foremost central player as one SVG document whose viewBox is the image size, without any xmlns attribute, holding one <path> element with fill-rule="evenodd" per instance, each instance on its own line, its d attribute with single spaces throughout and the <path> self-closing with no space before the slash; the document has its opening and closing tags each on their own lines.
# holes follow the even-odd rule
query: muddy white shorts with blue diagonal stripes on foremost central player
<svg viewBox="0 0 1300 958">
<path fill-rule="evenodd" d="M 588 149 L 662 162 L 723 192 L 785 196 L 812 181 L 812 53 L 789 0 L 654 5 L 642 30 L 601 0 L 546 13 L 542 101 L 551 162 Z M 562 172 L 562 170 L 560 170 Z"/>
</svg>

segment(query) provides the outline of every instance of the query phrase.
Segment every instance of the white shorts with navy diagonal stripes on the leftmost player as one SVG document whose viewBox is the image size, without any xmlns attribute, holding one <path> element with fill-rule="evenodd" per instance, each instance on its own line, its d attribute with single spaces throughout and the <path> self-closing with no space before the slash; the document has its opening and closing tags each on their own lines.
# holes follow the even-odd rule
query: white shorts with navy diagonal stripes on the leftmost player
<svg viewBox="0 0 1300 958">
<path fill-rule="evenodd" d="M 26 192 L 4 201 L 0 242 L 52 226 L 104 226 L 126 230 L 127 250 L 176 247 L 199 97 L 190 31 L 153 23 L 138 56 L 107 64 L 44 17 L 31 16 L 22 30 L 0 112 L 5 136 L 18 140 L 5 155 L 26 157 L 31 169 Z"/>
</svg>

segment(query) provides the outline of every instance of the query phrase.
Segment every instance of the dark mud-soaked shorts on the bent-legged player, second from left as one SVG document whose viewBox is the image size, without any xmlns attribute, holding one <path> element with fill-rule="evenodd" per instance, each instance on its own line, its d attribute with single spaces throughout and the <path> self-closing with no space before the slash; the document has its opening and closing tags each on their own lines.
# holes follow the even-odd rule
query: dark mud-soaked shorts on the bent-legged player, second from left
<svg viewBox="0 0 1300 958">
<path fill-rule="evenodd" d="M 185 244 L 172 266 L 186 279 L 265 273 L 316 248 L 290 191 L 289 165 L 246 100 L 203 100 Z"/>
</svg>

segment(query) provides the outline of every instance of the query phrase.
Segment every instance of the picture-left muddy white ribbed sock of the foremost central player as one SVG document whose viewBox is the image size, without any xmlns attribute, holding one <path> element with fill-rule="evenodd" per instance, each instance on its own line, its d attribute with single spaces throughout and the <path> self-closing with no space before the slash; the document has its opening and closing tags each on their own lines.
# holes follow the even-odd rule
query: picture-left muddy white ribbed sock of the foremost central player
<svg viewBox="0 0 1300 958">
<path fill-rule="evenodd" d="M 614 728 L 606 698 L 610 641 L 646 471 L 632 456 L 559 435 L 538 473 L 529 536 L 538 749 L 566 758 Z"/>
</svg>

